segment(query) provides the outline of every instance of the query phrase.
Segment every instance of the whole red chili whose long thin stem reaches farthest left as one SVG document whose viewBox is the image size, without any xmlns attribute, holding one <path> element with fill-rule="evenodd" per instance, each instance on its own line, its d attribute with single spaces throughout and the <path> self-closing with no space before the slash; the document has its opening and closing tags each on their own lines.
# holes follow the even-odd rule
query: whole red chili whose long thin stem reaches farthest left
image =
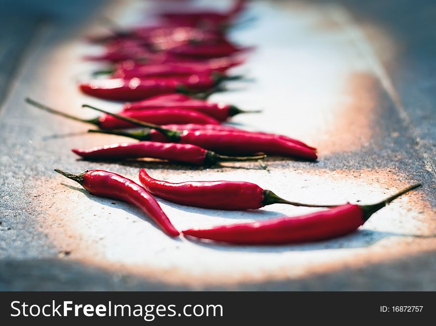
<svg viewBox="0 0 436 326">
<path fill-rule="evenodd" d="M 90 123 L 98 126 L 101 129 L 124 129 L 134 128 L 134 123 L 128 122 L 125 119 L 114 117 L 112 114 L 104 114 L 95 119 L 81 119 L 76 116 L 54 110 L 44 104 L 38 103 L 30 98 L 26 98 L 26 102 L 45 111 L 72 119 L 80 122 Z M 88 107 L 88 105 L 84 105 Z M 131 110 L 122 112 L 118 117 L 133 118 L 135 121 L 143 121 L 152 124 L 167 124 L 167 123 L 203 123 L 203 124 L 219 124 L 219 121 L 206 115 L 192 110 L 184 109 L 156 109 L 156 110 Z"/>
</svg>

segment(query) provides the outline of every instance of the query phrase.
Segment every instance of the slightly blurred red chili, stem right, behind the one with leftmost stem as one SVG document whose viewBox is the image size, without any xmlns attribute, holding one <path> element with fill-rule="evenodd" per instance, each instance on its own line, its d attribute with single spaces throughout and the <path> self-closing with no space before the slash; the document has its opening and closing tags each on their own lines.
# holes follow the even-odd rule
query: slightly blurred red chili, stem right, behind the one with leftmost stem
<svg viewBox="0 0 436 326">
<path fill-rule="evenodd" d="M 244 111 L 239 109 L 238 107 L 234 105 L 229 104 L 221 104 L 221 103 L 211 103 L 207 100 L 202 99 L 191 99 L 191 100 L 183 100 L 182 102 L 178 101 L 172 101 L 172 102 L 159 102 L 155 101 L 150 102 L 149 100 L 145 99 L 142 101 L 137 101 L 133 103 L 126 103 L 124 104 L 123 109 L 130 111 L 130 110 L 143 110 L 143 109 L 158 109 L 158 108 L 174 108 L 174 109 L 188 109 L 197 111 L 200 113 L 207 114 L 218 121 L 225 121 L 229 117 L 235 116 L 240 113 L 258 113 L 261 111 Z"/>
</svg>

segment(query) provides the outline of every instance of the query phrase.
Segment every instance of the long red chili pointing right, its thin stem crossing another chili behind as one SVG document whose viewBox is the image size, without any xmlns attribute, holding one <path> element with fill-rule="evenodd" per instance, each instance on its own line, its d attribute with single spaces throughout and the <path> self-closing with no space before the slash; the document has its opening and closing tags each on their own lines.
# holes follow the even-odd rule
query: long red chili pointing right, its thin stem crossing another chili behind
<svg viewBox="0 0 436 326">
<path fill-rule="evenodd" d="M 170 141 L 194 144 L 205 149 L 213 150 L 219 154 L 239 155 L 243 153 L 245 155 L 265 153 L 267 155 L 296 157 L 306 160 L 316 160 L 318 158 L 315 151 L 310 147 L 305 147 L 295 142 L 284 141 L 268 135 L 249 134 L 246 132 L 235 131 L 169 130 L 164 129 L 161 126 L 145 123 L 125 116 L 120 116 L 115 113 L 110 113 L 94 106 L 84 106 L 107 113 L 118 119 L 129 121 L 138 126 L 156 129 L 166 136 Z M 108 132 L 108 134 L 109 133 L 110 132 Z"/>
</svg>

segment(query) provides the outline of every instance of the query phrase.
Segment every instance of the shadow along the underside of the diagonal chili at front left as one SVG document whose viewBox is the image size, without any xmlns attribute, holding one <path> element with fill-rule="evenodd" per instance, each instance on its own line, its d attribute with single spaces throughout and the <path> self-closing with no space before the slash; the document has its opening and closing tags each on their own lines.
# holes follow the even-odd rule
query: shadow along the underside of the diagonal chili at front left
<svg viewBox="0 0 436 326">
<path fill-rule="evenodd" d="M 126 203 L 124 201 L 120 201 L 118 199 L 113 199 L 113 198 L 109 198 L 109 197 L 100 197 L 100 196 L 95 196 L 92 193 L 88 192 L 86 189 L 84 188 L 79 188 L 76 186 L 71 186 L 71 185 L 67 185 L 64 183 L 60 183 L 62 186 L 66 186 L 67 188 L 73 189 L 73 190 L 78 190 L 80 192 L 82 192 L 87 198 L 98 202 L 99 204 L 108 206 L 110 208 L 117 208 L 122 210 L 123 212 L 128 212 L 136 217 L 138 217 L 139 219 L 143 220 L 144 222 L 148 222 L 150 225 L 152 225 L 154 228 L 158 229 L 159 231 L 162 231 L 162 228 L 159 227 L 159 225 L 151 218 L 149 217 L 147 214 L 145 214 L 143 211 L 141 211 L 139 208 L 137 208 L 134 205 L 131 205 L 129 203 Z M 173 239 L 175 241 L 182 241 L 180 237 L 173 237 Z"/>
</svg>

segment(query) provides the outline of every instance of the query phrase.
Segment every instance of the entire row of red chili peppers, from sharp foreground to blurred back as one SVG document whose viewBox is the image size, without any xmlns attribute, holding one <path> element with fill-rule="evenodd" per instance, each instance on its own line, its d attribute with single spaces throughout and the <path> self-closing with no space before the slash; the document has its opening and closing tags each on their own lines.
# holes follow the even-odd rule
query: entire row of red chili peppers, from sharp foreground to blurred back
<svg viewBox="0 0 436 326">
<path fill-rule="evenodd" d="M 96 119 L 85 120 L 30 98 L 26 101 L 46 111 L 99 127 L 90 132 L 139 140 L 136 143 L 72 149 L 85 159 L 150 157 L 206 165 L 221 161 L 257 160 L 264 157 L 258 155 L 263 153 L 316 160 L 316 149 L 302 141 L 221 125 L 229 117 L 248 111 L 200 98 L 217 90 L 222 81 L 234 78 L 227 75 L 227 70 L 244 62 L 240 53 L 249 48 L 233 45 L 226 39 L 224 31 L 235 23 L 245 4 L 246 1 L 237 0 L 226 13 L 164 12 L 160 14 L 164 21 L 161 25 L 92 38 L 92 42 L 103 43 L 107 52 L 87 58 L 110 61 L 114 65 L 105 71 L 109 77 L 83 83 L 80 89 L 96 97 L 130 101 L 123 105 L 119 114 L 84 105 L 104 113 Z M 134 127 L 143 129 L 122 130 Z M 241 154 L 251 156 L 234 156 Z M 246 210 L 271 204 L 327 208 L 298 217 L 182 231 L 188 236 L 237 244 L 316 241 L 351 233 L 390 201 L 420 186 L 410 186 L 374 205 L 314 205 L 288 201 L 271 190 L 248 182 L 173 184 L 156 180 L 141 169 L 141 186 L 108 171 L 89 170 L 79 175 L 55 171 L 75 180 L 95 195 L 138 206 L 170 236 L 180 233 L 153 195 L 178 204 L 209 209 Z"/>
</svg>

